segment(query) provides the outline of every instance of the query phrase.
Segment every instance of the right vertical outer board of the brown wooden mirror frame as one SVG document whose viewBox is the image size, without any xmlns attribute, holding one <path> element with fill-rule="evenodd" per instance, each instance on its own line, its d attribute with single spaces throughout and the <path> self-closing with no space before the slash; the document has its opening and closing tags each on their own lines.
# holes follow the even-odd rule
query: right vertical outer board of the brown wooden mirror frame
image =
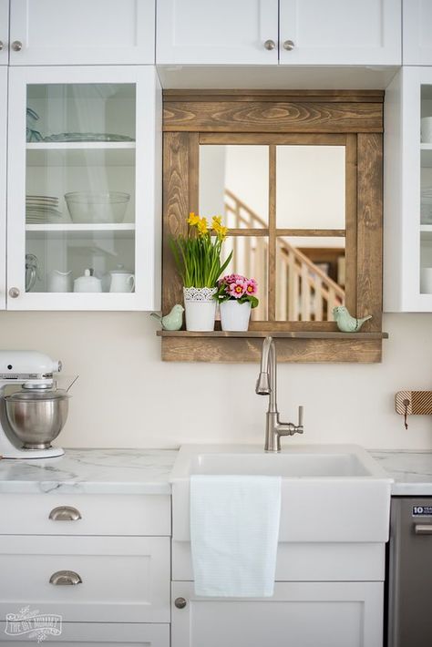
<svg viewBox="0 0 432 647">
<path fill-rule="evenodd" d="M 383 311 L 383 142 L 381 135 L 357 137 L 357 307 L 372 314 L 365 332 L 379 331 Z"/>
</svg>

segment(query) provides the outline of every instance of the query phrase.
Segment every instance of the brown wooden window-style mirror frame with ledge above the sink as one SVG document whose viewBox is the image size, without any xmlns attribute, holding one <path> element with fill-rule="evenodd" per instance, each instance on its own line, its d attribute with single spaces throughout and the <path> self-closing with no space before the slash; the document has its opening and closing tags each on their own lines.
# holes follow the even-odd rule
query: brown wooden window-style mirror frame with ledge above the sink
<svg viewBox="0 0 432 647">
<path fill-rule="evenodd" d="M 162 359 L 258 362 L 262 337 L 272 334 L 279 361 L 380 362 L 387 336 L 382 332 L 384 92 L 165 90 L 163 100 L 162 312 L 182 303 L 168 240 L 185 233 L 188 213 L 199 211 L 200 144 L 245 141 L 248 133 L 254 143 L 260 133 L 262 143 L 289 143 L 309 133 L 311 143 L 334 135 L 345 144 L 346 305 L 354 316 L 372 314 L 372 319 L 355 334 L 340 333 L 334 322 L 281 321 L 251 322 L 247 333 L 160 331 Z M 269 233 L 272 226 L 269 221 Z"/>
</svg>

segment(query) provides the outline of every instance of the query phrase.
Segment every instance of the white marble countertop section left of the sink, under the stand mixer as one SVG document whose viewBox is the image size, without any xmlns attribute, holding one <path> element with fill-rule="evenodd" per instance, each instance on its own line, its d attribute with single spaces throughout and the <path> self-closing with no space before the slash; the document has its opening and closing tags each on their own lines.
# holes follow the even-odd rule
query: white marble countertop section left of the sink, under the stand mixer
<svg viewBox="0 0 432 647">
<path fill-rule="evenodd" d="M 171 449 L 66 449 L 46 460 L 0 460 L 0 493 L 170 494 Z"/>
</svg>

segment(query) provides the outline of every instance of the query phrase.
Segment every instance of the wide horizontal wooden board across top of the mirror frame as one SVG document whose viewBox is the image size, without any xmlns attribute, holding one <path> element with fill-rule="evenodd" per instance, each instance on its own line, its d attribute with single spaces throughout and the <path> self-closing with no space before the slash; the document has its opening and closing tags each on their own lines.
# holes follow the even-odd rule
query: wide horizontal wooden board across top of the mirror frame
<svg viewBox="0 0 432 647">
<path fill-rule="evenodd" d="M 211 132 L 382 132 L 381 103 L 184 101 L 167 103 L 163 130 Z"/>
</svg>

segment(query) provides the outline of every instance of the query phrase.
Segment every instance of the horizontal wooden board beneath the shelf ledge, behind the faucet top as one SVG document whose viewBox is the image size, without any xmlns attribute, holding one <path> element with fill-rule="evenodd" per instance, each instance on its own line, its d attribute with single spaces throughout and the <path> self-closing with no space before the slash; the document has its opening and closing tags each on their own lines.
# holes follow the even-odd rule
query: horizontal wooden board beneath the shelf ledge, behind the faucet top
<svg viewBox="0 0 432 647">
<path fill-rule="evenodd" d="M 381 362 L 380 339 L 278 339 L 278 362 Z M 260 338 L 162 337 L 162 360 L 165 362 L 213 362 L 259 364 L 262 352 Z"/>
</svg>

